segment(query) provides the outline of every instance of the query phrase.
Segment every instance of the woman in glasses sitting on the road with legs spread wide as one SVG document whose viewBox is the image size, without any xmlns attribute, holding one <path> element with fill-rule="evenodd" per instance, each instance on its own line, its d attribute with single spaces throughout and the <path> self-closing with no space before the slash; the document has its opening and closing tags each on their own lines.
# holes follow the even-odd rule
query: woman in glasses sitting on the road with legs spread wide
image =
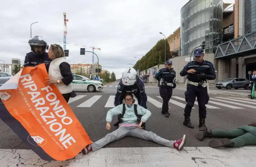
<svg viewBox="0 0 256 167">
<path fill-rule="evenodd" d="M 142 123 L 146 122 L 148 118 L 151 116 L 151 112 L 140 105 L 137 105 L 137 114 L 143 115 L 141 117 L 140 123 L 138 122 L 137 116 L 134 112 L 134 99 L 131 93 L 127 93 L 124 96 L 125 100 L 125 114 L 122 118 L 122 123 L 119 124 L 118 129 L 115 131 L 108 133 L 102 139 L 87 145 L 83 150 L 83 154 L 87 154 L 89 152 L 94 152 L 99 150 L 100 148 L 106 146 L 107 144 L 124 138 L 125 136 L 132 136 L 135 138 L 140 138 L 144 140 L 151 140 L 156 142 L 157 144 L 164 145 L 166 147 L 176 148 L 178 150 L 182 150 L 185 144 L 186 135 L 179 140 L 167 140 L 163 139 L 160 136 L 157 136 L 155 133 L 151 131 L 145 131 L 141 129 Z M 123 104 L 116 106 L 108 111 L 106 116 L 106 129 L 110 130 L 110 123 L 112 121 L 112 117 L 114 115 L 122 115 L 123 113 Z"/>
</svg>

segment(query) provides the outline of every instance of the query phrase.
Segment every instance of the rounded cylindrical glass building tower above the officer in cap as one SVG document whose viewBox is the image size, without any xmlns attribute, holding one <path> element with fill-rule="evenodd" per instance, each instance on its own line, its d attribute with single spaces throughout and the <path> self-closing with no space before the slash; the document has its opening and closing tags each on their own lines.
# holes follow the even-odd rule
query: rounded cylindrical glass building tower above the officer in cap
<svg viewBox="0 0 256 167">
<path fill-rule="evenodd" d="M 222 32 L 223 0 L 190 0 L 181 8 L 181 56 Z M 206 44 L 205 53 L 215 53 L 216 41 Z"/>
</svg>

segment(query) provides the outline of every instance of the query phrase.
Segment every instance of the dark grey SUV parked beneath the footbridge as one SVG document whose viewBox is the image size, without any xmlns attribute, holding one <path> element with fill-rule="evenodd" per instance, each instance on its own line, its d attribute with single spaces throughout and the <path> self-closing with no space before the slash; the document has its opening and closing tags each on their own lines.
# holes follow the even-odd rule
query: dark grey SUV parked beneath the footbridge
<svg viewBox="0 0 256 167">
<path fill-rule="evenodd" d="M 216 83 L 216 88 L 221 89 L 221 88 L 226 88 L 226 89 L 239 89 L 239 88 L 244 88 L 244 89 L 249 89 L 249 84 L 250 81 L 248 79 L 244 78 L 228 78 L 225 79 L 224 81 L 220 81 Z"/>
</svg>

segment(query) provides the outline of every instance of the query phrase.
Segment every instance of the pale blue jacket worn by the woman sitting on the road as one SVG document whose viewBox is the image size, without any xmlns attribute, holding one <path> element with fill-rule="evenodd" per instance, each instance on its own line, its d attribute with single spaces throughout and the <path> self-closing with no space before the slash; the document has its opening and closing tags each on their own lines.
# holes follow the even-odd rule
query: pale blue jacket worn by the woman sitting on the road
<svg viewBox="0 0 256 167">
<path fill-rule="evenodd" d="M 137 124 L 137 116 L 135 115 L 134 112 L 134 105 L 132 104 L 131 107 L 128 107 L 127 104 L 125 104 L 125 114 L 123 116 L 123 123 L 134 123 Z M 119 115 L 123 113 L 123 104 L 120 104 L 118 106 L 116 106 L 115 108 L 112 108 L 110 110 L 108 110 L 107 116 L 106 116 L 106 122 L 111 122 L 112 121 L 112 117 L 114 115 Z M 138 115 L 143 115 L 141 117 L 141 121 L 146 122 L 148 120 L 148 118 L 151 116 L 151 112 L 149 110 L 147 110 L 144 107 L 141 107 L 140 105 L 137 104 L 137 114 Z"/>
</svg>

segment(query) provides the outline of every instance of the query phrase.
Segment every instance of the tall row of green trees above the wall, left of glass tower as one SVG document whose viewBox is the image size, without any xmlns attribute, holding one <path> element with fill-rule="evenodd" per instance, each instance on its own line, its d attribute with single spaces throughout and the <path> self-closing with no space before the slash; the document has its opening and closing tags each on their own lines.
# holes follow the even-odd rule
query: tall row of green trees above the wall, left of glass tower
<svg viewBox="0 0 256 167">
<path fill-rule="evenodd" d="M 161 39 L 134 65 L 134 69 L 144 71 L 158 64 L 164 64 L 164 42 L 166 43 L 166 60 L 171 58 L 170 46 L 167 40 Z"/>
</svg>

